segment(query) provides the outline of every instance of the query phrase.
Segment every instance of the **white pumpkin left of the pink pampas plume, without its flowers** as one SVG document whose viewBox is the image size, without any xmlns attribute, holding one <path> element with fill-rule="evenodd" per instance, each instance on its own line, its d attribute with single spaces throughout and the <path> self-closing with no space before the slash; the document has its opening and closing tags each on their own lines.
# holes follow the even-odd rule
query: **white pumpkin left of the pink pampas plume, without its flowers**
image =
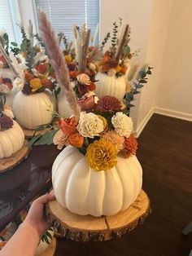
<svg viewBox="0 0 192 256">
<path fill-rule="evenodd" d="M 52 114 L 47 109 L 55 109 L 55 99 L 49 90 L 44 92 L 24 95 L 19 91 L 13 100 L 13 111 L 20 126 L 35 130 L 36 126 L 49 124 Z"/>
</svg>

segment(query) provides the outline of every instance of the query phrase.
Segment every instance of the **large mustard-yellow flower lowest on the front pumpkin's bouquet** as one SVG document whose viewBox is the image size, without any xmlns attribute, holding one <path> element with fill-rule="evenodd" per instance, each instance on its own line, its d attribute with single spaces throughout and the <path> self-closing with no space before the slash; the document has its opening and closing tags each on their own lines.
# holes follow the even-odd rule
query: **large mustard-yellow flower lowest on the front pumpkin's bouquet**
<svg viewBox="0 0 192 256">
<path fill-rule="evenodd" d="M 105 139 L 95 140 L 89 144 L 86 161 L 93 170 L 110 170 L 116 166 L 116 147 Z"/>
</svg>

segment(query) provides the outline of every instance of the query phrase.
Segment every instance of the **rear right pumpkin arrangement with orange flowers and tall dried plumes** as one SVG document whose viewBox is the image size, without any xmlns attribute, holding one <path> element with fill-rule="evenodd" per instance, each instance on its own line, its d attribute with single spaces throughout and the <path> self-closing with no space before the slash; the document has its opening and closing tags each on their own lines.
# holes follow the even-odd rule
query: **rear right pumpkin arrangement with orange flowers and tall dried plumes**
<svg viewBox="0 0 192 256">
<path fill-rule="evenodd" d="M 102 42 L 101 49 L 111 37 L 107 33 Z M 96 94 L 98 98 L 103 95 L 115 96 L 120 101 L 123 100 L 127 86 L 127 74 L 129 73 L 129 60 L 132 58 L 129 47 L 130 29 L 129 24 L 113 24 L 110 49 L 105 51 L 103 59 L 98 62 L 98 73 L 96 75 Z"/>
</svg>

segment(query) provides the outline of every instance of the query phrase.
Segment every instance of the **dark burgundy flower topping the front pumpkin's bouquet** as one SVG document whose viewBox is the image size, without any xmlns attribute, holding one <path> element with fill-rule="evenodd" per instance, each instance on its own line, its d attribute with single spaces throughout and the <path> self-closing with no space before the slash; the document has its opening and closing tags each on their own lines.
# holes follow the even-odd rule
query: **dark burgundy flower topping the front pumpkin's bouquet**
<svg viewBox="0 0 192 256">
<path fill-rule="evenodd" d="M 98 100 L 97 108 L 101 112 L 118 112 L 121 108 L 120 100 L 112 96 L 103 96 L 101 99 Z"/>
</svg>

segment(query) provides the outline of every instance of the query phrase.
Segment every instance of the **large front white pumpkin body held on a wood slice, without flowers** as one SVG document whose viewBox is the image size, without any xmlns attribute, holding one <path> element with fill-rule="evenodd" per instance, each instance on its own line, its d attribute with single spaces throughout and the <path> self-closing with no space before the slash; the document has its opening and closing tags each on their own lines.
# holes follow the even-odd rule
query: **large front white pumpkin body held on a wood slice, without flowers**
<svg viewBox="0 0 192 256">
<path fill-rule="evenodd" d="M 113 215 L 125 210 L 142 188 L 142 166 L 137 157 L 117 157 L 111 170 L 91 170 L 76 148 L 64 148 L 52 167 L 52 183 L 60 205 L 72 213 Z"/>
</svg>

